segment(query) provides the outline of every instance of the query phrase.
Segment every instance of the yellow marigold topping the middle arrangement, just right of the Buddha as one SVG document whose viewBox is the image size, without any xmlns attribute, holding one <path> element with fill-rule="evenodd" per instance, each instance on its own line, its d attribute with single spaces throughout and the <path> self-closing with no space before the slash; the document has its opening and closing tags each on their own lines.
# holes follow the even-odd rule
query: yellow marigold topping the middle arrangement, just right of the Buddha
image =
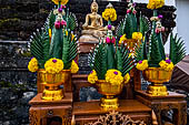
<svg viewBox="0 0 189 125">
<path fill-rule="evenodd" d="M 106 20 L 106 21 L 116 21 L 117 20 L 117 13 L 116 13 L 116 10 L 113 8 L 107 8 L 105 9 L 105 11 L 102 12 L 102 18 Z"/>
</svg>

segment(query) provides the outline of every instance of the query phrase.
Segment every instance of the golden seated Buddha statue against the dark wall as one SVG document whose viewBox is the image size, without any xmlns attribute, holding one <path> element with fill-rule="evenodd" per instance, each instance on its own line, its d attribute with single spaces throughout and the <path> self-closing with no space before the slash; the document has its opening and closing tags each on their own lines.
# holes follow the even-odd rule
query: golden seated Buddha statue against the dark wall
<svg viewBox="0 0 189 125">
<path fill-rule="evenodd" d="M 103 38 L 107 31 L 103 28 L 102 17 L 97 13 L 98 3 L 96 0 L 91 3 L 91 13 L 86 15 L 86 22 L 82 25 L 80 42 L 98 42 L 99 38 Z"/>
</svg>

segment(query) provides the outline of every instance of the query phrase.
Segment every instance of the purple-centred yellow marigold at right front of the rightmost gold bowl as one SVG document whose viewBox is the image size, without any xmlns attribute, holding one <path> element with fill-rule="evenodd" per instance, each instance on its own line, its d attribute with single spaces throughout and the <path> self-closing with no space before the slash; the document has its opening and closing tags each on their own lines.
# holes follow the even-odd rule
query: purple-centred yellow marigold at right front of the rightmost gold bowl
<svg viewBox="0 0 189 125">
<path fill-rule="evenodd" d="M 173 70 L 173 63 L 170 60 L 161 61 L 159 63 L 160 67 L 165 69 L 166 71 Z"/>
</svg>

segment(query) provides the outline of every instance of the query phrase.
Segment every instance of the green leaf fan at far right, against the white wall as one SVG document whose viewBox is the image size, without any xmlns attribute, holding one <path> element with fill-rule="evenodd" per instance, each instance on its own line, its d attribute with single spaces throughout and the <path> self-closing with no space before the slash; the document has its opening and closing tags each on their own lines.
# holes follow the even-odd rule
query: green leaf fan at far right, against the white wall
<svg viewBox="0 0 189 125">
<path fill-rule="evenodd" d="M 172 61 L 173 64 L 180 62 L 186 55 L 186 48 L 185 42 L 181 38 L 178 39 L 178 34 L 173 37 L 171 33 L 170 35 L 170 55 L 169 59 Z"/>
</svg>

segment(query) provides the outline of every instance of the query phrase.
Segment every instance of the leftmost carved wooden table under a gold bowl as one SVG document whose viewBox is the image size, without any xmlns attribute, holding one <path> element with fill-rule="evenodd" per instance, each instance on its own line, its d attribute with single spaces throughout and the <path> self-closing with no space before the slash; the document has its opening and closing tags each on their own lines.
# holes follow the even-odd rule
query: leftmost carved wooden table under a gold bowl
<svg viewBox="0 0 189 125">
<path fill-rule="evenodd" d="M 61 101 L 43 101 L 42 94 L 34 96 L 29 104 L 30 125 L 47 125 L 47 117 L 58 116 L 62 119 L 62 125 L 70 123 L 72 110 L 72 93 L 66 93 Z"/>
</svg>

